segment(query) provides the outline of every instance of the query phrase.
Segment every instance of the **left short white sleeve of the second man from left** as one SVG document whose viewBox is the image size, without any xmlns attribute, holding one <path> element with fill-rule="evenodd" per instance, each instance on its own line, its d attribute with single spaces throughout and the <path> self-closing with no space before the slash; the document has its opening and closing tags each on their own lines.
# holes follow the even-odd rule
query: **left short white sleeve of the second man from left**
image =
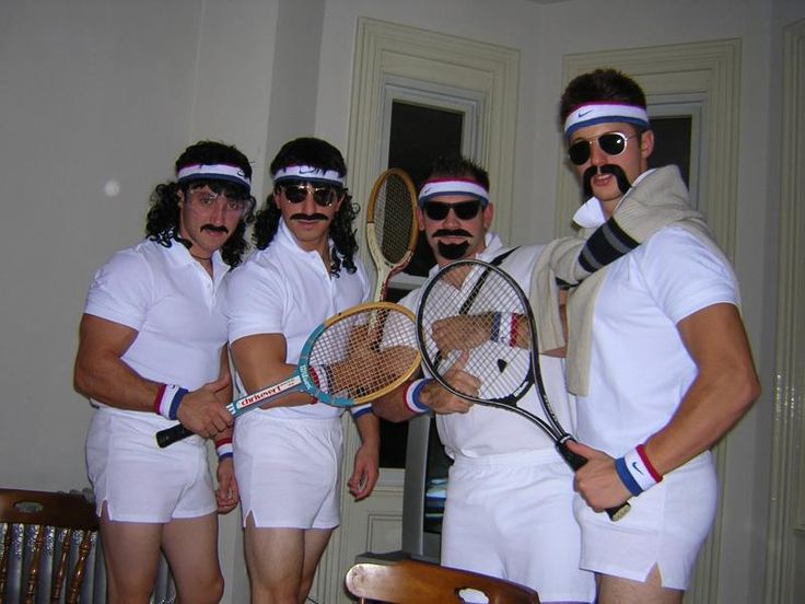
<svg viewBox="0 0 805 604">
<path fill-rule="evenodd" d="M 226 284 L 229 339 L 256 334 L 282 334 L 284 278 L 272 266 L 248 263 L 235 269 Z"/>
</svg>

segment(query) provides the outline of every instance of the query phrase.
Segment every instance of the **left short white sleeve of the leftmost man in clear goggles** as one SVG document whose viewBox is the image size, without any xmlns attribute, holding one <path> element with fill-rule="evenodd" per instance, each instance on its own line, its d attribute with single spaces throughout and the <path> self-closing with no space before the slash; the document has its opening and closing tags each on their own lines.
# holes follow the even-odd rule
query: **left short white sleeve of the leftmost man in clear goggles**
<svg viewBox="0 0 805 604">
<path fill-rule="evenodd" d="M 132 249 L 117 252 L 95 272 L 84 313 L 140 330 L 152 304 L 153 275 Z"/>
</svg>

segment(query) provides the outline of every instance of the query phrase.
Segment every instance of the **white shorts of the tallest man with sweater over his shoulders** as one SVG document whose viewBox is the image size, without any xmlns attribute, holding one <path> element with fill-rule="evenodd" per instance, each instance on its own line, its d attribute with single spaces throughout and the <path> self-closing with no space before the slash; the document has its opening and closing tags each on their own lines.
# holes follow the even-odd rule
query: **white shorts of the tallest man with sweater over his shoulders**
<svg viewBox="0 0 805 604">
<path fill-rule="evenodd" d="M 664 588 L 685 590 L 715 518 L 718 481 L 710 452 L 666 474 L 629 500 L 618 522 L 595 513 L 576 496 L 582 526 L 582 568 L 645 581 L 657 565 Z"/>
</svg>

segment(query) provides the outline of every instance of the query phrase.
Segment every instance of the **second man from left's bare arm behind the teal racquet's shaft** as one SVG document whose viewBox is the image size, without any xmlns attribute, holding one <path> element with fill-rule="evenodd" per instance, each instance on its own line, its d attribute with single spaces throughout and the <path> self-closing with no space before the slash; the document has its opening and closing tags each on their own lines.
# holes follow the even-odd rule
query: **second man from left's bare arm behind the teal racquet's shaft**
<svg viewBox="0 0 805 604">
<path fill-rule="evenodd" d="M 282 334 L 257 334 L 236 339 L 230 346 L 237 374 L 248 393 L 270 386 L 288 379 L 296 365 L 285 362 L 287 346 Z M 312 403 L 311 395 L 291 393 L 277 400 L 262 405 L 291 407 Z"/>
</svg>

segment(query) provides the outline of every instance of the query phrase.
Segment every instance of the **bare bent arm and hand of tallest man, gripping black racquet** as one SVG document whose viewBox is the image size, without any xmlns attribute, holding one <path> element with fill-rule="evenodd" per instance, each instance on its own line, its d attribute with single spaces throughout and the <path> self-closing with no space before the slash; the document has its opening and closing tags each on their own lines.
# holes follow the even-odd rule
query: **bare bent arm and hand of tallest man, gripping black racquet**
<svg viewBox="0 0 805 604">
<path fill-rule="evenodd" d="M 715 444 L 760 394 L 746 332 L 733 304 L 702 309 L 680 321 L 677 329 L 699 372 L 670 421 L 645 443 L 660 475 Z M 576 487 L 593 509 L 629 497 L 611 457 L 581 444 L 570 446 L 590 460 L 576 473 Z"/>
</svg>

